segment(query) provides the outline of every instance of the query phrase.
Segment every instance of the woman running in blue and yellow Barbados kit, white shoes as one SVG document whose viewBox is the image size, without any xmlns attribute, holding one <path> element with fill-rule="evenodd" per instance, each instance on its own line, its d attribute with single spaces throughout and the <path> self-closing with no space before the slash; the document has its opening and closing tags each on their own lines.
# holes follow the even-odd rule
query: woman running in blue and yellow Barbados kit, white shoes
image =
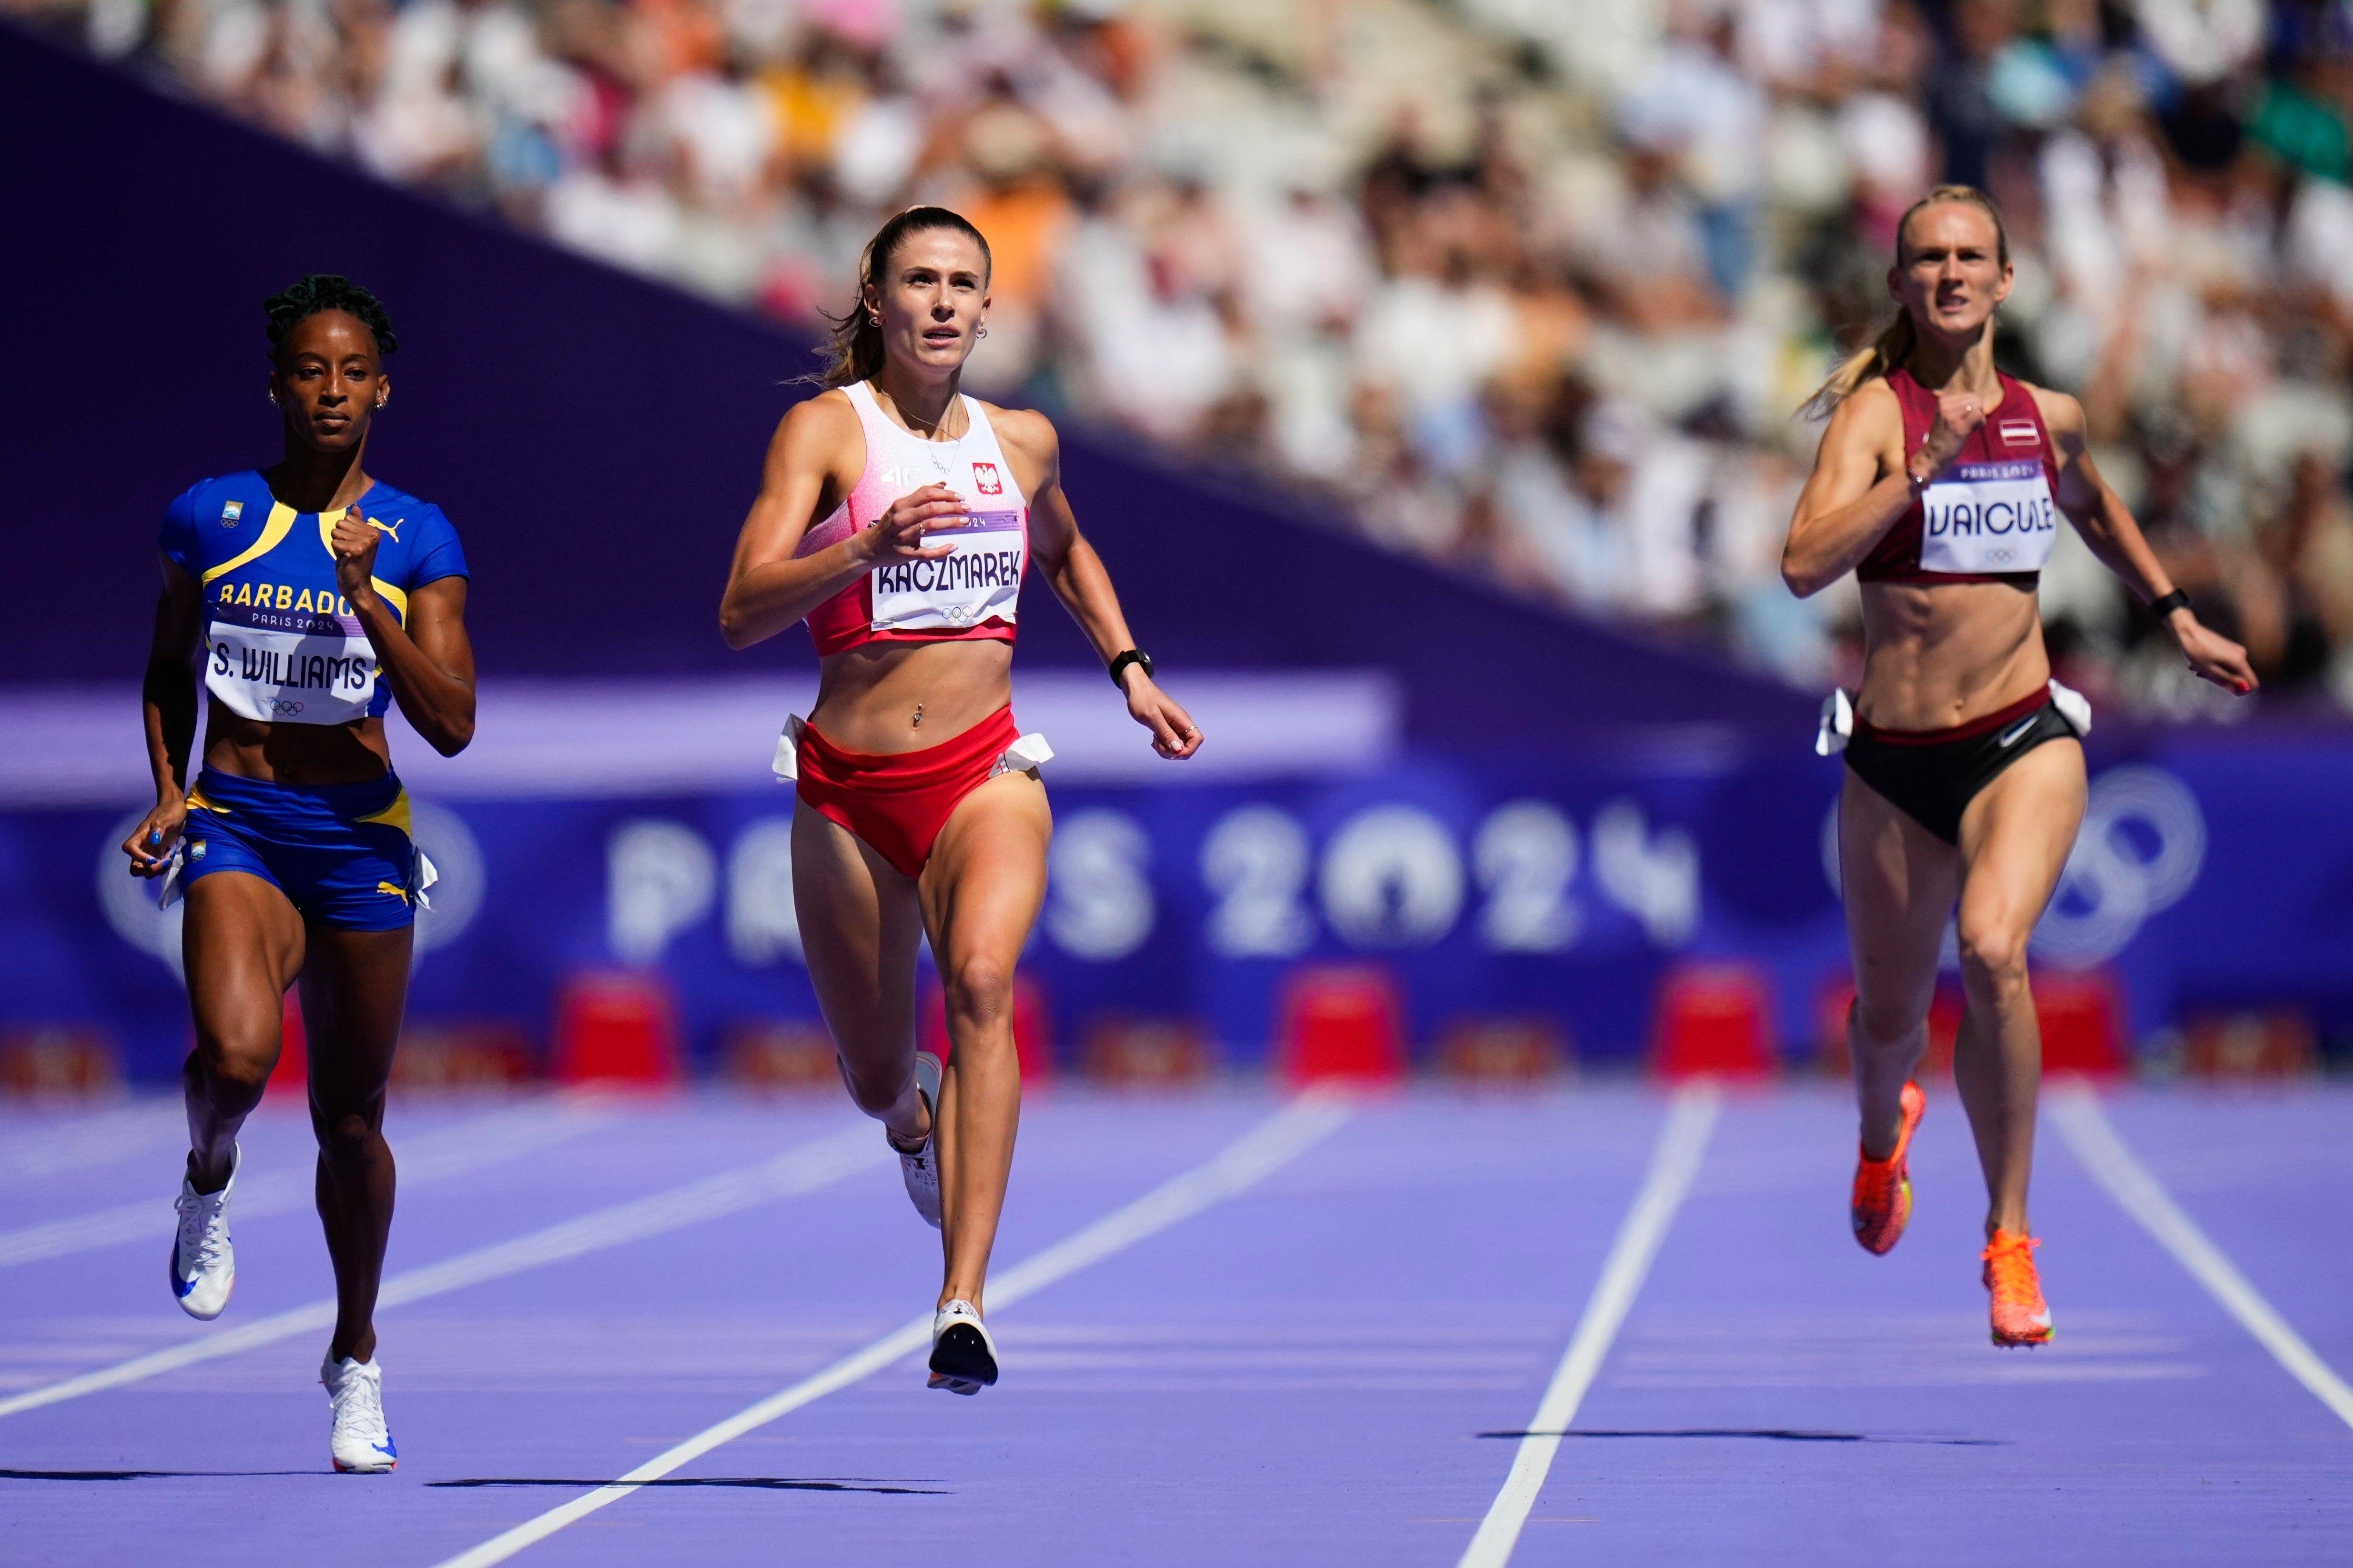
<svg viewBox="0 0 2353 1568">
<path fill-rule="evenodd" d="M 264 308 L 285 456 L 205 480 L 165 512 L 146 670 L 155 809 L 122 851 L 134 877 L 188 900 L 195 1051 L 181 1072 L 191 1147 L 172 1293 L 198 1319 L 228 1305 L 238 1128 L 278 1063 L 280 1001 L 299 978 L 336 1293 L 320 1368 L 329 1448 L 336 1469 L 384 1472 L 395 1462 L 372 1324 L 393 1220 L 384 1084 L 426 882 L 384 710 L 398 696 L 445 757 L 473 738 L 466 557 L 440 508 L 360 465 L 398 346 L 376 296 L 313 275 Z M 188 788 L 198 679 L 205 771 Z"/>
</svg>

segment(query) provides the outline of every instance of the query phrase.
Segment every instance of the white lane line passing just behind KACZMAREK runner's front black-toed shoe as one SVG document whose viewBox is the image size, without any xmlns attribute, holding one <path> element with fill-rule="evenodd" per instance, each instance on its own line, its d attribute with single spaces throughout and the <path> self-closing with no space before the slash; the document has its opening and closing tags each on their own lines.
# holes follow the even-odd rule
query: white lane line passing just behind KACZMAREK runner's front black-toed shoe
<svg viewBox="0 0 2353 1568">
<path fill-rule="evenodd" d="M 1346 1121 L 1351 1107 L 1346 1098 L 1334 1093 L 1308 1091 L 1292 1105 L 1282 1107 L 1268 1121 L 1261 1121 L 1245 1138 L 1228 1145 L 1217 1159 L 1205 1166 L 1195 1166 L 1184 1175 L 1176 1175 L 1153 1192 L 1146 1192 L 1134 1204 L 1118 1208 L 1094 1225 L 1087 1225 L 1071 1237 L 1064 1237 L 1042 1253 L 1033 1253 L 1012 1269 L 998 1274 L 988 1281 L 988 1312 L 991 1316 L 1012 1307 L 1026 1295 L 1035 1295 L 1047 1286 L 1078 1274 L 1080 1269 L 1111 1258 L 1118 1251 L 1153 1237 L 1179 1220 L 1188 1220 L 1205 1208 L 1212 1208 L 1231 1197 L 1238 1197 L 1254 1187 L 1266 1175 L 1273 1175 L 1292 1159 L 1304 1154 L 1308 1147 L 1320 1143 L 1341 1121 Z M 765 1427 L 767 1422 L 791 1415 L 805 1403 L 814 1403 L 826 1394 L 847 1389 L 852 1382 L 880 1373 L 892 1361 L 927 1349 L 932 1345 L 932 1314 L 901 1324 L 892 1333 L 882 1335 L 866 1349 L 852 1352 L 835 1361 L 833 1366 L 802 1378 L 788 1389 L 769 1394 L 755 1406 L 748 1406 L 715 1427 L 696 1432 L 685 1443 L 654 1455 L 638 1469 L 628 1472 L 609 1486 L 600 1486 L 593 1493 L 574 1497 L 560 1507 L 548 1509 L 539 1519 L 527 1519 L 504 1535 L 485 1540 L 471 1552 L 459 1552 L 456 1556 L 442 1561 L 438 1568 L 489 1568 L 489 1563 L 504 1563 L 525 1547 L 532 1547 L 548 1535 L 555 1535 L 569 1523 L 595 1514 L 602 1507 L 628 1497 L 647 1481 L 659 1481 L 682 1465 L 692 1465 L 720 1443 L 732 1443 L 734 1439 Z"/>
</svg>

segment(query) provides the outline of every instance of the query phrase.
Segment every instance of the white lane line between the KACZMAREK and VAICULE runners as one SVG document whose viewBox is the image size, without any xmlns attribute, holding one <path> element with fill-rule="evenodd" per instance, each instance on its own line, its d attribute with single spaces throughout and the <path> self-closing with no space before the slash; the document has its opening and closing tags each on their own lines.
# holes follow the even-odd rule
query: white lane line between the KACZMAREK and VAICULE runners
<svg viewBox="0 0 2353 1568">
<path fill-rule="evenodd" d="M 1666 1227 L 1692 1190 L 1692 1178 L 1699 1175 L 1699 1157 L 1708 1147 L 1708 1133 L 1715 1131 L 1720 1103 L 1722 1095 L 1708 1079 L 1675 1091 L 1666 1131 L 1659 1133 L 1659 1150 L 1649 1159 L 1649 1175 L 1642 1178 L 1642 1192 L 1635 1194 L 1626 1222 L 1619 1225 L 1609 1260 L 1602 1262 L 1602 1276 L 1595 1281 L 1593 1295 L 1586 1298 L 1577 1333 L 1569 1335 L 1569 1349 L 1553 1368 L 1553 1382 L 1544 1389 L 1537 1415 L 1527 1422 L 1527 1434 L 1511 1458 L 1504 1490 L 1487 1507 L 1487 1519 L 1480 1521 L 1478 1535 L 1464 1549 L 1459 1568 L 1504 1568 L 1513 1547 L 1520 1544 L 1520 1526 L 1537 1507 L 1544 1476 L 1553 1472 L 1560 1434 L 1577 1420 L 1577 1406 L 1593 1387 L 1593 1375 L 1602 1368 L 1602 1356 L 1609 1354 L 1609 1342 L 1617 1340 L 1617 1331 L 1649 1274 L 1649 1262 L 1659 1255 L 1659 1244 L 1666 1241 Z"/>
</svg>

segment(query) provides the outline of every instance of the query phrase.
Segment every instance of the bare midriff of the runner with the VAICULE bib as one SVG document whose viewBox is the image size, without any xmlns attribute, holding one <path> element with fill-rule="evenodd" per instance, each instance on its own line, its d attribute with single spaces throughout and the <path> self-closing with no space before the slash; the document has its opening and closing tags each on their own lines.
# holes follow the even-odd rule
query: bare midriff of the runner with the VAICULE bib
<svg viewBox="0 0 2353 1568">
<path fill-rule="evenodd" d="M 2052 677 L 2031 588 L 1864 583 L 1864 689 L 1880 729 L 1951 729 L 2040 691 Z"/>
</svg>

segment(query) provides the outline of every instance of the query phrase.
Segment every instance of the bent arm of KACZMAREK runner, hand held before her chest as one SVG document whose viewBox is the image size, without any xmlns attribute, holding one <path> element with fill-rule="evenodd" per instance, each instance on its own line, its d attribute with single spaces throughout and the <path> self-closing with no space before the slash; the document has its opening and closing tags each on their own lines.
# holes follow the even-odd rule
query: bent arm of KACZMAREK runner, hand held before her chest
<svg viewBox="0 0 2353 1568">
<path fill-rule="evenodd" d="M 925 484 L 889 503 L 871 529 L 852 531 L 824 550 L 795 555 L 819 508 L 831 512 L 856 482 L 842 475 L 842 454 L 866 449 L 856 409 L 828 393 L 786 409 L 767 444 L 760 496 L 736 536 L 727 592 L 720 595 L 720 635 L 729 649 L 748 649 L 798 625 L 812 609 L 892 562 L 932 562 L 953 555 L 948 545 L 925 548 L 934 522 L 965 510 L 946 484 Z"/>
</svg>

